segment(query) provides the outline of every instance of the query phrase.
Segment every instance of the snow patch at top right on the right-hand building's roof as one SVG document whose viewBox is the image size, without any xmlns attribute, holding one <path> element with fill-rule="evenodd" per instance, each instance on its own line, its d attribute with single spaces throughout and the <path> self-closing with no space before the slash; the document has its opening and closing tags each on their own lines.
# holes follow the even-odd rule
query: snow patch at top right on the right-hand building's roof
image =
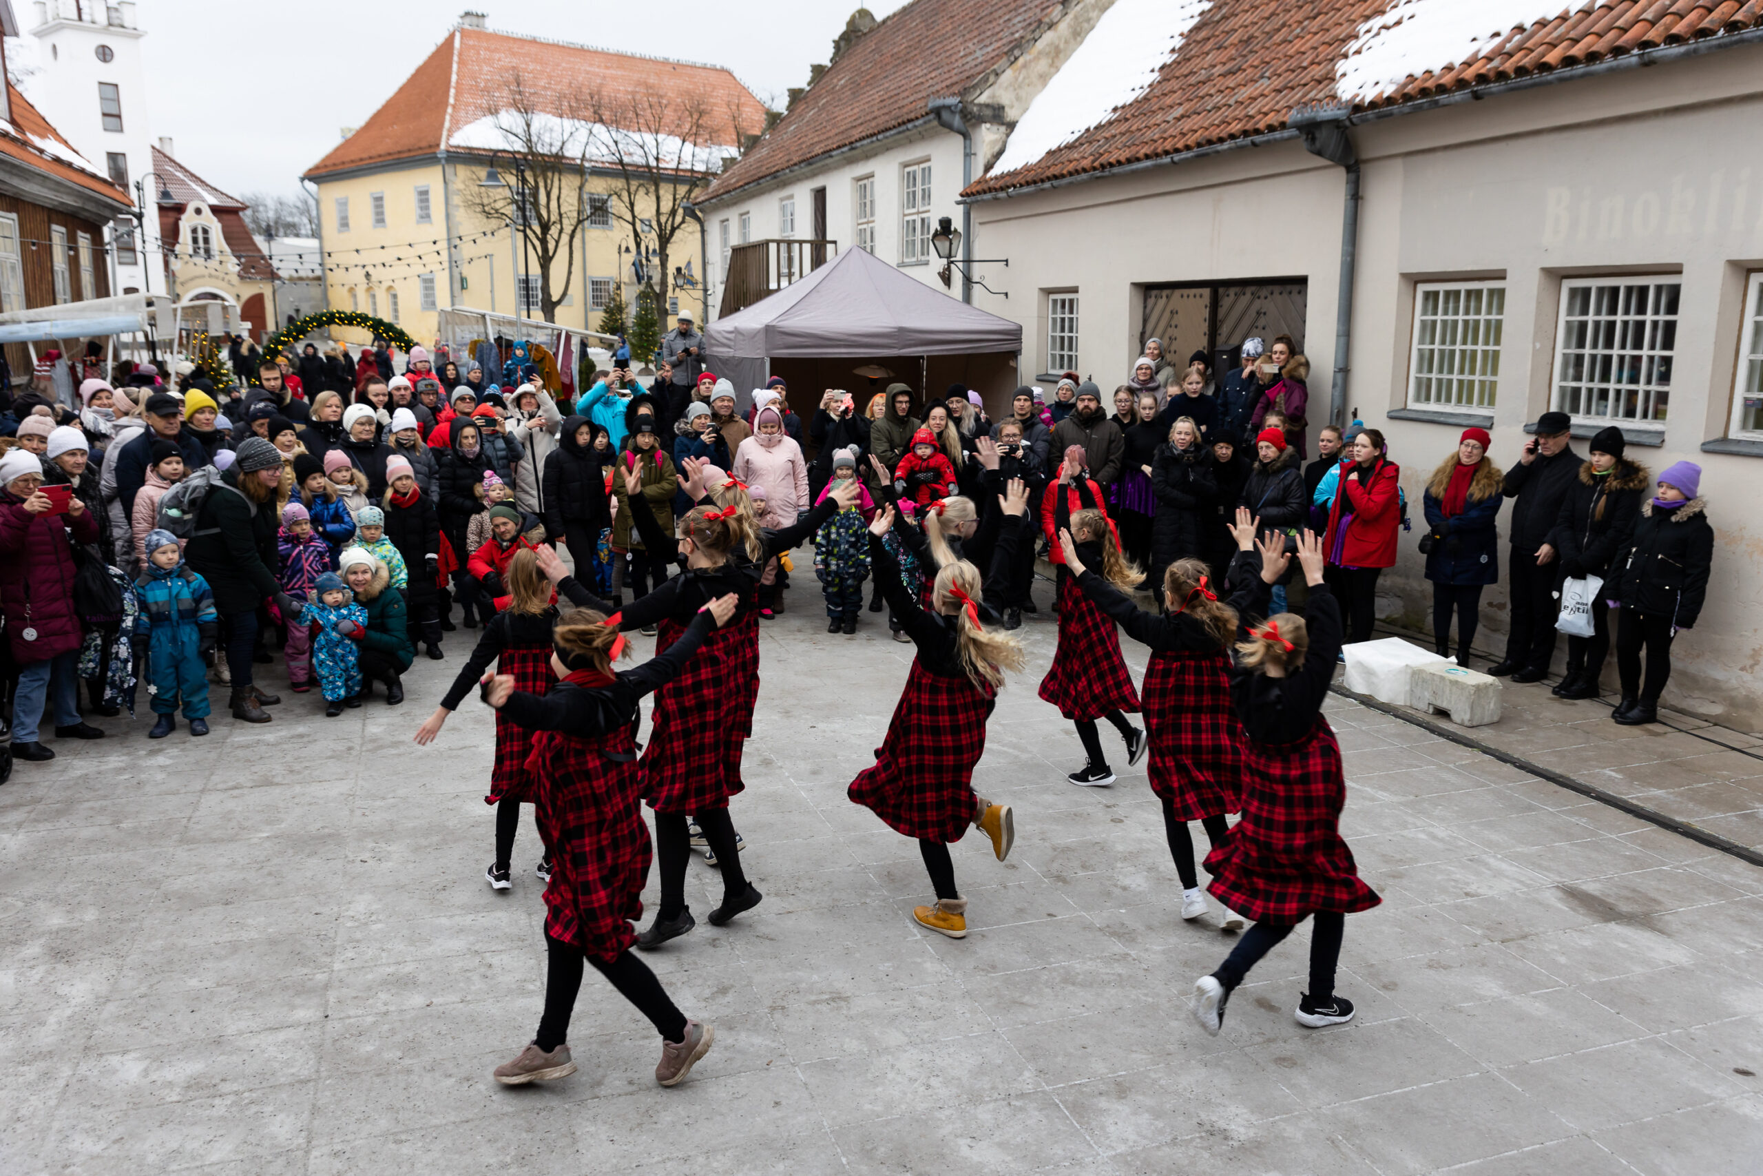
<svg viewBox="0 0 1763 1176">
<path fill-rule="evenodd" d="M 1407 78 L 1440 72 L 1481 56 L 1514 28 L 1529 28 L 1592 0 L 1396 0 L 1359 25 L 1335 67 L 1335 93 L 1366 102 Z"/>
</svg>

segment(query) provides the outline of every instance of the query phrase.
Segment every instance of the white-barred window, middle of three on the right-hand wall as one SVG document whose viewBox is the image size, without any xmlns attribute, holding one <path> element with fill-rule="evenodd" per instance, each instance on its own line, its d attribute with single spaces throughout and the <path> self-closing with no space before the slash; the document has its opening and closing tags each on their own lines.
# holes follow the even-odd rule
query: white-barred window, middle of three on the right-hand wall
<svg viewBox="0 0 1763 1176">
<path fill-rule="evenodd" d="M 1680 289 L 1664 277 L 1562 282 L 1555 407 L 1580 418 L 1663 421 Z"/>
</svg>

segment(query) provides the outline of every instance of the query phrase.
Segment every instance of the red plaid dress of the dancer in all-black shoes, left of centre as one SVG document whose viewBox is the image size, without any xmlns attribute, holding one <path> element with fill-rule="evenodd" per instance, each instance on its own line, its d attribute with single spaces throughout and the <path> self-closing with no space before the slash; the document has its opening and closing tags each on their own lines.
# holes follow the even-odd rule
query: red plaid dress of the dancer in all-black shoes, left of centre
<svg viewBox="0 0 1763 1176">
<path fill-rule="evenodd" d="M 665 619 L 656 651 L 679 640 L 686 626 Z M 658 813 L 726 809 L 740 783 L 742 712 L 749 709 L 740 679 L 748 638 L 740 624 L 716 629 L 686 668 L 656 691 L 654 726 L 643 748 L 643 799 Z M 758 656 L 756 651 L 753 654 Z"/>
</svg>

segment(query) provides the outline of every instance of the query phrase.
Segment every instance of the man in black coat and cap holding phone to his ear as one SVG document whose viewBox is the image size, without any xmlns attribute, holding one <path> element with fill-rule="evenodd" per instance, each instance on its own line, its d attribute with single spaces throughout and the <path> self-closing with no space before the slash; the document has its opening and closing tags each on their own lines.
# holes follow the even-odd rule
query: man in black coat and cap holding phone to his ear
<svg viewBox="0 0 1763 1176">
<path fill-rule="evenodd" d="M 1555 548 L 1548 532 L 1560 504 L 1580 476 L 1583 460 L 1573 451 L 1573 420 L 1544 413 L 1523 457 L 1506 471 L 1506 497 L 1513 499 L 1507 561 L 1511 631 L 1506 658 L 1488 670 L 1514 682 L 1539 682 L 1555 658 Z"/>
</svg>

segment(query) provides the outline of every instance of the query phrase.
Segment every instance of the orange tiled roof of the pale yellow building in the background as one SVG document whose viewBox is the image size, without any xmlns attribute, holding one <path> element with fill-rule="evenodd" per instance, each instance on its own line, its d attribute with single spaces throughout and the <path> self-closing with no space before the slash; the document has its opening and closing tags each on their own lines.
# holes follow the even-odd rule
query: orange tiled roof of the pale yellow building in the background
<svg viewBox="0 0 1763 1176">
<path fill-rule="evenodd" d="M 596 95 L 612 108 L 647 97 L 691 95 L 700 104 L 698 139 L 733 146 L 742 132 L 765 125 L 765 106 L 721 65 L 695 65 L 665 58 L 614 53 L 532 37 L 455 28 L 404 85 L 307 176 L 319 178 L 349 167 L 395 159 L 435 155 L 462 127 L 510 106 L 518 76 L 524 100 L 559 118 L 592 118 Z M 457 81 L 455 81 L 457 79 Z M 668 115 L 666 134 L 691 130 L 684 102 Z M 642 127 L 649 130 L 649 127 Z"/>
</svg>

